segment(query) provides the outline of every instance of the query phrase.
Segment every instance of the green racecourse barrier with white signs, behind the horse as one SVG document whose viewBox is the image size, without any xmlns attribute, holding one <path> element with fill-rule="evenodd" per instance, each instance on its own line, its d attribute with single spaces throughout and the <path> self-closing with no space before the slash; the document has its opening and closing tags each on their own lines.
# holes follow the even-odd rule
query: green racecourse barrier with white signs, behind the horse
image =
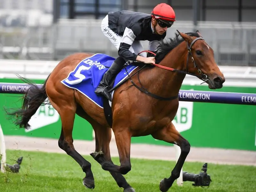
<svg viewBox="0 0 256 192">
<path fill-rule="evenodd" d="M 4 83 L 22 83 L 19 79 L 0 79 Z M 41 84 L 43 81 L 35 80 Z M 12 90 L 12 87 L 2 87 Z M 197 90 L 236 93 L 256 93 L 253 87 L 223 87 L 220 90 L 210 90 L 202 85 L 183 85 L 181 90 Z M 20 94 L 0 94 L 0 108 L 20 107 Z M 192 147 L 228 148 L 256 151 L 256 104 L 255 97 L 241 97 L 243 104 L 208 103 L 208 94 L 180 94 L 182 100 L 185 97 L 198 98 L 206 102 L 180 101 L 180 106 L 172 121 L 177 130 L 185 137 Z M 230 100 L 223 97 L 223 102 Z M 251 105 L 252 104 L 252 105 Z M 41 138 L 56 138 L 60 136 L 61 121 L 57 111 L 51 105 L 41 106 L 31 118 L 32 129 L 25 131 L 6 119 L 4 110 L 0 112 L 0 123 L 4 135 L 22 135 Z M 73 138 L 77 140 L 93 140 L 91 125 L 79 116 L 76 116 Z M 144 143 L 154 145 L 169 145 L 166 142 L 155 140 L 152 136 L 133 137 L 132 143 Z"/>
</svg>

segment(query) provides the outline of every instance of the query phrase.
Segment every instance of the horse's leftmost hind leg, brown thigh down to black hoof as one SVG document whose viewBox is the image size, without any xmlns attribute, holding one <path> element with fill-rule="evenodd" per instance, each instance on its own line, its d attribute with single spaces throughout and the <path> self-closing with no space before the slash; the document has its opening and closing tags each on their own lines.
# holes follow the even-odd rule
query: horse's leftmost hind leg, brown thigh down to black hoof
<svg viewBox="0 0 256 192">
<path fill-rule="evenodd" d="M 57 97 L 58 105 L 52 100 L 50 101 L 52 106 L 60 114 L 60 119 L 62 123 L 60 139 L 58 142 L 59 147 L 63 149 L 69 156 L 73 157 L 73 159 L 75 159 L 75 161 L 82 167 L 83 172 L 85 172 L 86 174 L 83 179 L 83 184 L 85 187 L 93 189 L 95 185 L 91 170 L 91 164 L 75 150 L 73 145 L 72 131 L 75 120 L 76 103 L 72 100 L 62 100 L 61 97 Z"/>
</svg>

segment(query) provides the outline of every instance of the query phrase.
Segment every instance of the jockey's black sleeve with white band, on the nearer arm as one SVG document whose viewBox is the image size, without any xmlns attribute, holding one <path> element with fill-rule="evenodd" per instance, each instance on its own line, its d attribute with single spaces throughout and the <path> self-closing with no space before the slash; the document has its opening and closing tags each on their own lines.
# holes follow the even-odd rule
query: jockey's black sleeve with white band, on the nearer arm
<svg viewBox="0 0 256 192">
<path fill-rule="evenodd" d="M 129 51 L 134 39 L 140 34 L 141 28 L 139 25 L 127 26 L 124 29 L 124 34 L 118 49 L 118 55 L 127 60 L 136 61 L 137 54 Z"/>
</svg>

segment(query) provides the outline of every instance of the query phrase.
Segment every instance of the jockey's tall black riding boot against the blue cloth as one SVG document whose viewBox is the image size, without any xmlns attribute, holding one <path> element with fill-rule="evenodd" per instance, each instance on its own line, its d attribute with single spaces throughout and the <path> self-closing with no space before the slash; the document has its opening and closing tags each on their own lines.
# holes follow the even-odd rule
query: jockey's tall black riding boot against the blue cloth
<svg viewBox="0 0 256 192">
<path fill-rule="evenodd" d="M 104 95 L 108 100 L 112 101 L 111 94 L 108 92 L 110 81 L 123 69 L 125 60 L 122 57 L 117 57 L 112 63 L 108 71 L 103 75 L 99 86 L 94 91 L 97 95 Z"/>
</svg>

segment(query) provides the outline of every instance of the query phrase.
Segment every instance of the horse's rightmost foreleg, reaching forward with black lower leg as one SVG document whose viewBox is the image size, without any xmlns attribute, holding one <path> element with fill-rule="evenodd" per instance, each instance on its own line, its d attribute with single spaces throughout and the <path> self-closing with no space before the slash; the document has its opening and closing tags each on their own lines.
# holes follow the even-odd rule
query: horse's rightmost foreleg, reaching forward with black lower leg
<svg viewBox="0 0 256 192">
<path fill-rule="evenodd" d="M 190 144 L 180 135 L 180 133 L 175 129 L 172 123 L 168 124 L 163 129 L 155 132 L 154 134 L 152 134 L 152 136 L 157 140 L 163 140 L 168 143 L 177 144 L 178 146 L 180 146 L 181 149 L 180 157 L 172 170 L 171 176 L 168 179 L 164 178 L 160 182 L 160 190 L 162 192 L 166 192 L 172 186 L 173 182 L 179 178 L 181 168 L 190 151 Z"/>
</svg>

